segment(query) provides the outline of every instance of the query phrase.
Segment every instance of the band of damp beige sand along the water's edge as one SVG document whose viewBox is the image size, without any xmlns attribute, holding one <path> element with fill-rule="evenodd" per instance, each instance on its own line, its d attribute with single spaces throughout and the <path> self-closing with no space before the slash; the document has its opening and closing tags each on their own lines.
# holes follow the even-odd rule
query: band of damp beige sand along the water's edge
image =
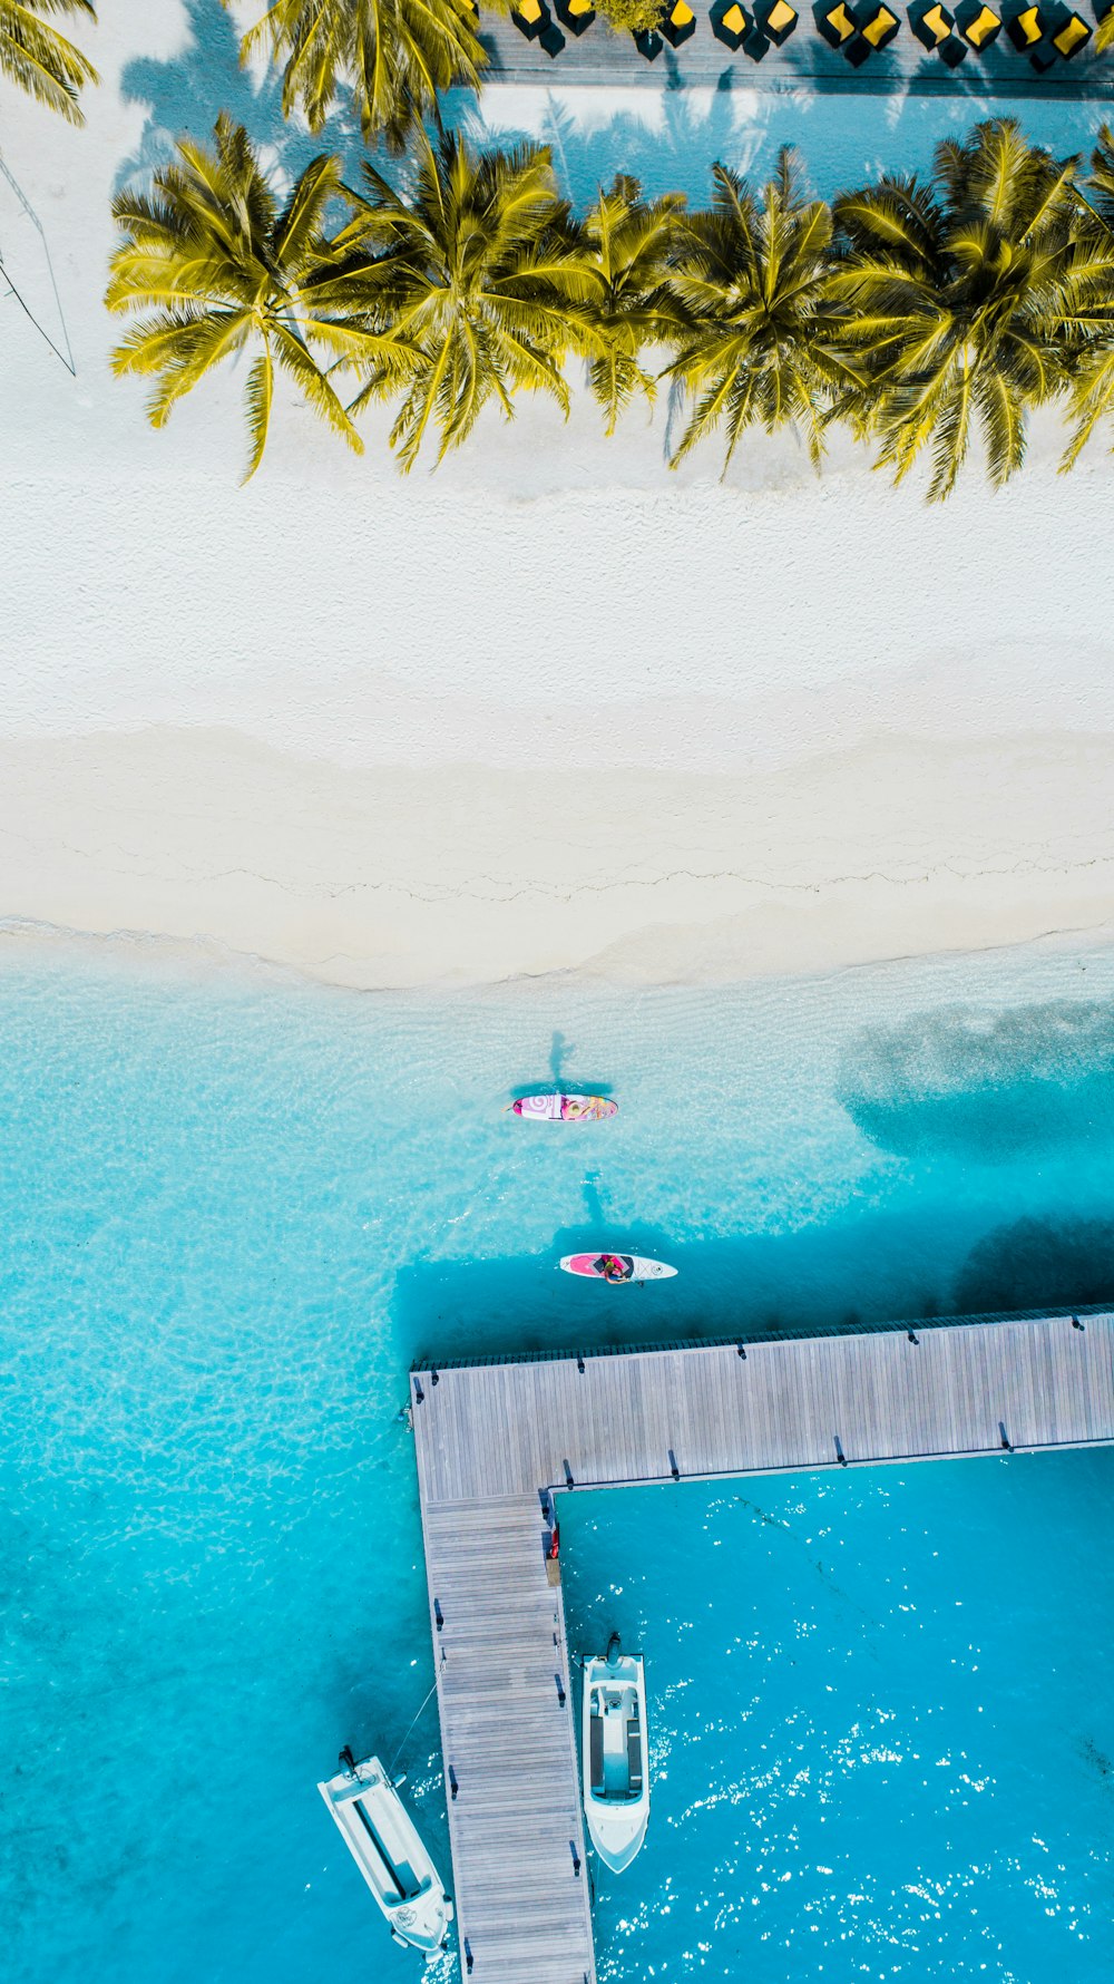
<svg viewBox="0 0 1114 1984">
<path fill-rule="evenodd" d="M 906 782 L 896 837 L 862 807 L 852 821 L 870 784 L 854 754 L 811 766 L 809 800 L 799 768 L 765 782 L 632 772 L 601 851 L 490 768 L 353 772 L 230 734 L 0 744 L 0 938 L 444 994 L 563 978 L 702 990 L 1090 948 L 1114 934 L 1114 825 L 1080 815 L 1078 796 L 1102 806 L 1112 778 L 1092 762 L 1068 811 L 1064 766 L 1021 851 L 993 837 L 989 776 L 934 790 L 920 835 Z M 963 788 L 991 794 L 981 815 L 959 811 Z M 731 867 L 773 806 L 795 837 Z"/>
</svg>

